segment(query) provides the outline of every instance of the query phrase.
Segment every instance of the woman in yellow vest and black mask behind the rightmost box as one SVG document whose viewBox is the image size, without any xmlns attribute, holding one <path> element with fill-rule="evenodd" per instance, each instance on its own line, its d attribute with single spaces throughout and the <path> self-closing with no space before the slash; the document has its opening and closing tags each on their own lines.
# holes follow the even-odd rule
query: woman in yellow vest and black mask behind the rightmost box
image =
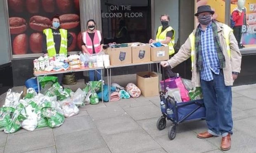
<svg viewBox="0 0 256 153">
<path fill-rule="evenodd" d="M 149 43 L 161 42 L 162 44 L 167 44 L 169 46 L 169 55 L 174 54 L 174 44 L 175 44 L 175 30 L 168 25 L 170 21 L 170 16 L 167 14 L 161 15 L 160 17 L 162 26 L 159 26 L 156 32 L 156 40 L 150 39 Z"/>
</svg>

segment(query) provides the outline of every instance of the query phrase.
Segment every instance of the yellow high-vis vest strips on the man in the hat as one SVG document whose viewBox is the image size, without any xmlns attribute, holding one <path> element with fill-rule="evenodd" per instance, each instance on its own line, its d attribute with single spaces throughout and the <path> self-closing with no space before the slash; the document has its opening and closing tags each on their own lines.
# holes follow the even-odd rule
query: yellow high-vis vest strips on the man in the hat
<svg viewBox="0 0 256 153">
<path fill-rule="evenodd" d="M 226 40 L 226 45 L 227 45 L 227 52 L 228 52 L 228 56 L 231 57 L 230 55 L 230 41 L 229 41 L 229 35 L 230 32 L 233 32 L 233 30 L 228 26 L 223 24 L 223 32 L 224 32 L 224 37 Z M 191 45 L 191 67 L 192 70 L 194 68 L 194 54 L 195 54 L 195 35 L 193 34 L 193 32 L 190 34 L 189 36 L 190 38 L 190 45 Z"/>
</svg>

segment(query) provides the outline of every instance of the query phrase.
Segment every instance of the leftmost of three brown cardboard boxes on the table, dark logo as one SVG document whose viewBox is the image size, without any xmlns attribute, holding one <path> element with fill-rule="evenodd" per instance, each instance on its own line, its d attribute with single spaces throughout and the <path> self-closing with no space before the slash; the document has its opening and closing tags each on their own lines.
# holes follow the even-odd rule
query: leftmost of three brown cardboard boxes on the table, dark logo
<svg viewBox="0 0 256 153">
<path fill-rule="evenodd" d="M 124 65 L 132 63 L 132 47 L 108 48 L 106 54 L 109 55 L 110 65 Z"/>
</svg>

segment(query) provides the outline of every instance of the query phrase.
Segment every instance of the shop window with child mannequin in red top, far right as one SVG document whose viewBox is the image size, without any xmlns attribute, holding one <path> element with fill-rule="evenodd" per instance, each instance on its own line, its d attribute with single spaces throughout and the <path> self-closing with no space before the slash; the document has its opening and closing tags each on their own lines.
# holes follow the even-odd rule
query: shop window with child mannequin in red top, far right
<svg viewBox="0 0 256 153">
<path fill-rule="evenodd" d="M 235 17 L 234 35 L 240 48 L 256 47 L 256 1 L 231 0 L 230 14 Z M 237 16 L 242 14 L 241 16 Z M 242 53 L 243 49 L 241 50 Z"/>
</svg>

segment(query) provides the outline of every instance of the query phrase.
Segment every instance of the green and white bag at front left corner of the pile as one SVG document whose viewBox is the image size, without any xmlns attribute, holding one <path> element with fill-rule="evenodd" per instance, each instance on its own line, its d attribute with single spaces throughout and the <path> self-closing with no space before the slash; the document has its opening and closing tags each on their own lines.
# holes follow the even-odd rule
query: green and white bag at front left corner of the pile
<svg viewBox="0 0 256 153">
<path fill-rule="evenodd" d="M 26 117 L 21 115 L 21 111 L 24 109 L 24 105 L 19 103 L 16 107 L 12 118 L 5 118 L 6 126 L 4 127 L 5 133 L 14 133 L 21 128 L 21 121 L 26 119 Z"/>
</svg>

